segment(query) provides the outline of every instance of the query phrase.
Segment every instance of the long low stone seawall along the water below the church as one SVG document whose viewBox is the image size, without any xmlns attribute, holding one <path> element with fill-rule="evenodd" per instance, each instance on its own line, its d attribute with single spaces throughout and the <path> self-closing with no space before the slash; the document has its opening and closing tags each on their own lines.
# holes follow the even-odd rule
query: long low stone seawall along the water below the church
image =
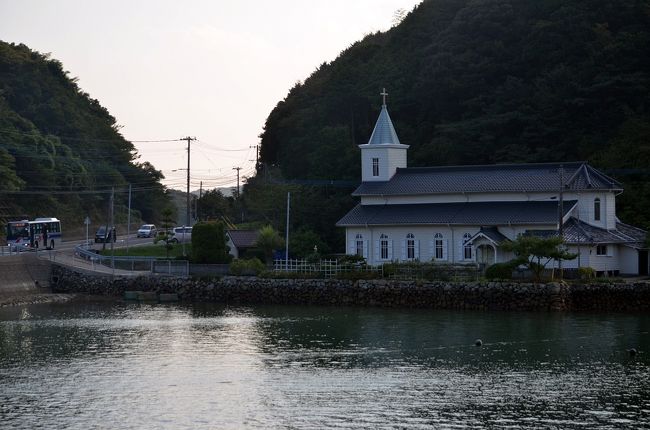
<svg viewBox="0 0 650 430">
<path fill-rule="evenodd" d="M 449 283 L 258 279 L 116 278 L 55 266 L 55 292 L 123 297 L 125 291 L 177 294 L 188 302 L 421 307 L 474 310 L 650 310 L 650 284 Z"/>
</svg>

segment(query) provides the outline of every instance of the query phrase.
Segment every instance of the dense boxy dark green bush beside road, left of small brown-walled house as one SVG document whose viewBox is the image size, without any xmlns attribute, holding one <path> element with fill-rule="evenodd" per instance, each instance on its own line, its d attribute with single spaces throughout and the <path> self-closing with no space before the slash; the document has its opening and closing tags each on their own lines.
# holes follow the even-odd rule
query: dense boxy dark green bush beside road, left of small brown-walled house
<svg viewBox="0 0 650 430">
<path fill-rule="evenodd" d="M 199 222 L 192 227 L 192 261 L 201 264 L 227 263 L 231 259 L 221 221 Z"/>
</svg>

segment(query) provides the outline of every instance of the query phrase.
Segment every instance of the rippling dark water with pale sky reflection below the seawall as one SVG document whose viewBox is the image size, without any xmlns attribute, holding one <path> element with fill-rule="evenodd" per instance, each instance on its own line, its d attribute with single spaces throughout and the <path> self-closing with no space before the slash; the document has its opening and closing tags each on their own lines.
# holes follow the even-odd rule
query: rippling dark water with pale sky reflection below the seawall
<svg viewBox="0 0 650 430">
<path fill-rule="evenodd" d="M 0 423 L 647 428 L 649 331 L 629 314 L 5 308 Z"/>
</svg>

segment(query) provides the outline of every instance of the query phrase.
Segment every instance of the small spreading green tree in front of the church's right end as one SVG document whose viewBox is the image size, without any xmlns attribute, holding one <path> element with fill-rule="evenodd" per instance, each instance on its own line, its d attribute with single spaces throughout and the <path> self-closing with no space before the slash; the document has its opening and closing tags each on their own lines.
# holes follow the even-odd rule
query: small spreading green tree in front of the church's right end
<svg viewBox="0 0 650 430">
<path fill-rule="evenodd" d="M 551 261 L 573 260 L 578 254 L 568 252 L 561 237 L 537 237 L 520 235 L 512 242 L 501 244 L 501 249 L 515 254 L 519 264 L 525 264 L 539 282 Z"/>
</svg>

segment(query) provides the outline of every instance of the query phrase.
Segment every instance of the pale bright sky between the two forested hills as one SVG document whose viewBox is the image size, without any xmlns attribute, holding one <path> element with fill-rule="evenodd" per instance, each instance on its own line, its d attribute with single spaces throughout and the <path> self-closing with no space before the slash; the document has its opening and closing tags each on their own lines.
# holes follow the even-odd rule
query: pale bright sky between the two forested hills
<svg viewBox="0 0 650 430">
<path fill-rule="evenodd" d="M 253 174 L 250 146 L 297 81 L 420 1 L 0 0 L 0 40 L 51 53 L 128 140 L 196 137 L 191 188 L 209 189 Z M 185 189 L 186 142 L 134 144 Z"/>
</svg>

